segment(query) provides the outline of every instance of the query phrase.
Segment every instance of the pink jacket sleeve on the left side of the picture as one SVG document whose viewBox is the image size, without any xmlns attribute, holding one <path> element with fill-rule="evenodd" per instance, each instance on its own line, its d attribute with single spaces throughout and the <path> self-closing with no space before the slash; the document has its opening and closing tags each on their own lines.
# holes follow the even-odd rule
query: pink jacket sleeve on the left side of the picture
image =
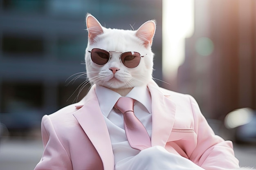
<svg viewBox="0 0 256 170">
<path fill-rule="evenodd" d="M 58 139 L 48 115 L 43 117 L 41 129 L 44 152 L 34 170 L 72 170 L 70 156 Z"/>
</svg>

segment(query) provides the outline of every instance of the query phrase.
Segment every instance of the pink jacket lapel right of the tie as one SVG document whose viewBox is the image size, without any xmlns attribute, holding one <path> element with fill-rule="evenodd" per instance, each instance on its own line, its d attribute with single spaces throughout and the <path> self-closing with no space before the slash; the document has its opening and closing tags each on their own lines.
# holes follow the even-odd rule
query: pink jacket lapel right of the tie
<svg viewBox="0 0 256 170">
<path fill-rule="evenodd" d="M 148 84 L 152 98 L 152 146 L 166 145 L 174 124 L 176 104 L 168 99 L 153 81 Z"/>
</svg>

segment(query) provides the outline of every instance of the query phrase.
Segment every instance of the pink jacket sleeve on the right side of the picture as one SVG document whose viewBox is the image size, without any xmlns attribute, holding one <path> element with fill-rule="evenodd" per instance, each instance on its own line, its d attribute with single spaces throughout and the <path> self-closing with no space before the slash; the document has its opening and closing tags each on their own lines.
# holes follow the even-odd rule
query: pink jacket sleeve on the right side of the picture
<svg viewBox="0 0 256 170">
<path fill-rule="evenodd" d="M 195 99 L 189 97 L 195 121 L 195 133 L 197 134 L 197 145 L 189 159 L 205 170 L 239 168 L 238 159 L 234 156 L 232 142 L 224 141 L 214 134 Z"/>
</svg>

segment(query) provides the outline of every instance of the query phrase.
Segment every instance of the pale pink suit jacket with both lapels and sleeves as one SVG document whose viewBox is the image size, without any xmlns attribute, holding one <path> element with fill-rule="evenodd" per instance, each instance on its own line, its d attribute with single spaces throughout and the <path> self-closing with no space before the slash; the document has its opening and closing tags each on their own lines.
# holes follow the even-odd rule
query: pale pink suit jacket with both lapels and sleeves
<svg viewBox="0 0 256 170">
<path fill-rule="evenodd" d="M 195 99 L 151 81 L 152 146 L 206 170 L 239 168 L 231 141 L 214 135 Z M 114 155 L 95 85 L 76 104 L 42 119 L 43 157 L 35 170 L 113 170 Z"/>
</svg>

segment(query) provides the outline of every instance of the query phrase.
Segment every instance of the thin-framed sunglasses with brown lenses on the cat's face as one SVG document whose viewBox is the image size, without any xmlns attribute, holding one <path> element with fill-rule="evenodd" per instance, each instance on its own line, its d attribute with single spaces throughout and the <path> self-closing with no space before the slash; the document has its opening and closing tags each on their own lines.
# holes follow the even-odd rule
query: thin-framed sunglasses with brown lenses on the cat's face
<svg viewBox="0 0 256 170">
<path fill-rule="evenodd" d="M 103 49 L 92 49 L 92 51 L 88 51 L 91 53 L 91 59 L 92 62 L 99 66 L 103 66 L 107 64 L 110 59 L 111 59 L 111 54 L 112 52 L 115 53 L 121 53 L 119 55 L 121 63 L 126 67 L 126 68 L 135 68 L 139 65 L 141 57 L 140 53 L 138 52 L 118 52 L 118 51 L 106 51 Z"/>
</svg>

